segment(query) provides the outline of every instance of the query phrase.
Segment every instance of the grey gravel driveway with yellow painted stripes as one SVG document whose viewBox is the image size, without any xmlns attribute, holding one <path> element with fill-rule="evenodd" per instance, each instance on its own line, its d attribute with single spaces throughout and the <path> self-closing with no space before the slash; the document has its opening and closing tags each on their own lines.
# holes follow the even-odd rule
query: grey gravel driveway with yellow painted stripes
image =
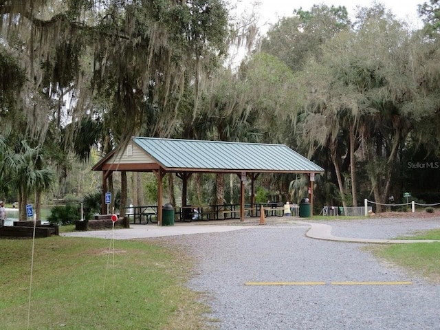
<svg viewBox="0 0 440 330">
<path fill-rule="evenodd" d="M 393 238 L 440 219 L 331 221 L 333 234 Z M 265 225 L 166 238 L 199 265 L 190 287 L 207 293 L 218 329 L 440 329 L 440 285 L 375 259 L 366 244 L 305 237 L 304 225 Z M 409 285 L 334 282 L 411 281 Z M 245 285 L 323 282 L 323 285 Z M 310 283 L 313 284 L 313 283 Z"/>
</svg>

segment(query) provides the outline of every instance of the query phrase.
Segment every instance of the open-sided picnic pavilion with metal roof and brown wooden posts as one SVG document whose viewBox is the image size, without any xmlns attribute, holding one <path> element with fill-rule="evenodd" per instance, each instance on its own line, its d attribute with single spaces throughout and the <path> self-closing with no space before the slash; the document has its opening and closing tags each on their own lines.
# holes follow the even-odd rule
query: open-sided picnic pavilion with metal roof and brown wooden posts
<svg viewBox="0 0 440 330">
<path fill-rule="evenodd" d="M 251 180 L 251 204 L 254 181 L 261 173 L 305 173 L 314 181 L 324 169 L 285 144 L 259 144 L 200 140 L 131 137 L 121 148 L 103 157 L 92 170 L 102 171 L 102 208 L 107 191 L 107 177 L 114 171 L 153 172 L 157 177 L 157 223 L 162 224 L 162 179 L 175 173 L 183 181 L 182 206 L 186 206 L 186 186 L 192 173 L 235 173 L 241 181 L 240 219 L 244 220 L 245 179 Z M 313 210 L 313 184 L 311 210 Z"/>
</svg>

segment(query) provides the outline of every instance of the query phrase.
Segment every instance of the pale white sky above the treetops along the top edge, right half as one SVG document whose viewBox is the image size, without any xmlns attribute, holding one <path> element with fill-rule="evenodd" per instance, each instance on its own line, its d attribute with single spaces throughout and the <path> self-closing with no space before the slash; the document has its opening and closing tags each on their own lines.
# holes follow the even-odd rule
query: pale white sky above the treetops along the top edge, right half
<svg viewBox="0 0 440 330">
<path fill-rule="evenodd" d="M 421 20 L 417 15 L 417 5 L 426 1 L 428 0 L 379 0 L 377 2 L 384 4 L 385 8 L 391 10 L 397 19 L 407 21 L 412 28 L 417 29 L 422 27 Z M 309 10 L 314 4 L 344 5 L 350 16 L 355 14 L 357 6 L 371 7 L 373 5 L 371 0 L 230 0 L 230 2 L 237 4 L 237 12 L 243 12 L 245 8 L 252 10 L 252 3 L 259 2 L 259 9 L 256 12 L 259 13 L 262 25 L 263 23 L 276 23 L 279 17 L 292 16 L 295 9 Z M 263 28 L 262 30 L 267 29 Z"/>
</svg>

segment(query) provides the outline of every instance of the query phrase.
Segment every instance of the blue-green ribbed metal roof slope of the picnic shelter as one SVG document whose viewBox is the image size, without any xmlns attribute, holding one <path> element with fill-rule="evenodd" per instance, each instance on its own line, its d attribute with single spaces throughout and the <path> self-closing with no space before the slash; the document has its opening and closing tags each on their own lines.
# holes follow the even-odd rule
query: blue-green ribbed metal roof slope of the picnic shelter
<svg viewBox="0 0 440 330">
<path fill-rule="evenodd" d="M 324 169 L 285 144 L 133 137 L 166 170 L 320 173 Z"/>
</svg>

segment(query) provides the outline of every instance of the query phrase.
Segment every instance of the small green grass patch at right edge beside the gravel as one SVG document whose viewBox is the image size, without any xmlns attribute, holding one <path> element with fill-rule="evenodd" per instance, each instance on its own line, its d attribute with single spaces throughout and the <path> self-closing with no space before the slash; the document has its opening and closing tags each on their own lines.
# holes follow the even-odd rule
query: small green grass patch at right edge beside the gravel
<svg viewBox="0 0 440 330">
<path fill-rule="evenodd" d="M 428 230 L 416 236 L 397 239 L 439 239 L 440 230 Z M 440 243 L 410 243 L 380 245 L 373 248 L 376 256 L 419 274 L 429 281 L 440 283 Z"/>
</svg>

